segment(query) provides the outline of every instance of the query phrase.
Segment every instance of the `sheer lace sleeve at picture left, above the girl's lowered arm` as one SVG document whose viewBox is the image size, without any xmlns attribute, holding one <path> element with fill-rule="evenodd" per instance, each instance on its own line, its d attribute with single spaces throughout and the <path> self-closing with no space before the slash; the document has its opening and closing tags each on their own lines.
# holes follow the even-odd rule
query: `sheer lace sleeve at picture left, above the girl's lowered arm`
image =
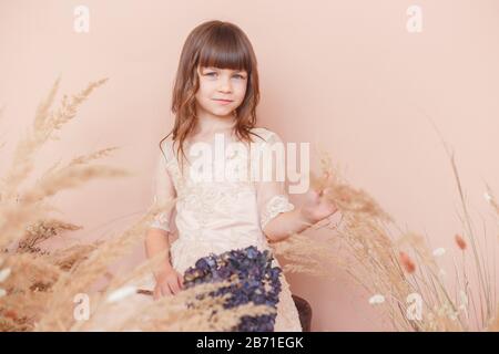
<svg viewBox="0 0 499 354">
<path fill-rule="evenodd" d="M 153 204 L 162 211 L 154 217 L 150 227 L 171 232 L 170 220 L 175 189 L 166 169 L 166 158 L 163 152 L 160 152 L 153 179 Z"/>
</svg>

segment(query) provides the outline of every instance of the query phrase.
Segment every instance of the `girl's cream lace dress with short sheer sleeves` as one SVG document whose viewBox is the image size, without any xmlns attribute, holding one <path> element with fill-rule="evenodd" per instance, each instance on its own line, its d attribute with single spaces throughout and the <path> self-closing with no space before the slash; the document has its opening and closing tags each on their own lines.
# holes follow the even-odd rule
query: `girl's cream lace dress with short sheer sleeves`
<svg viewBox="0 0 499 354">
<path fill-rule="evenodd" d="M 275 146 L 274 143 L 282 143 L 277 134 L 266 128 L 254 128 L 253 133 L 262 137 L 253 136 L 261 150 L 268 152 Z M 226 145 L 235 142 L 226 136 L 224 139 Z M 211 143 L 212 147 L 215 146 L 214 142 L 216 138 Z M 177 198 L 174 210 L 176 212 L 173 210 L 161 212 L 151 227 L 172 231 L 174 222 L 177 231 L 175 233 L 179 237 L 171 243 L 170 252 L 172 266 L 180 273 L 194 266 L 197 259 L 212 252 L 217 254 L 248 246 L 271 250 L 262 230 L 281 212 L 294 209 L 288 201 L 284 181 L 275 180 L 276 178 L 273 181 L 256 181 L 249 178 L 236 180 L 227 178 L 226 175 L 222 177 L 216 175 L 217 177 L 212 180 L 193 178 L 192 174 L 185 173 L 186 167 L 184 174 L 181 174 L 181 165 L 175 158 L 171 140 L 165 140 L 162 149 L 154 178 L 154 200 L 159 204 L 165 202 L 170 199 L 173 188 Z M 189 154 L 191 144 L 186 145 L 185 152 L 192 162 Z M 236 162 L 241 158 L 248 168 L 246 171 L 254 171 L 256 165 L 252 154 L 245 155 L 237 149 L 233 149 L 232 153 L 227 153 L 224 157 L 225 166 L 237 163 L 238 166 L 243 166 L 241 160 Z M 191 165 L 184 159 L 184 166 Z M 276 160 L 273 166 L 277 167 L 278 162 Z M 275 264 L 278 266 L 277 260 Z M 282 292 L 277 304 L 275 331 L 302 331 L 298 312 L 284 274 L 281 282 Z"/>
</svg>

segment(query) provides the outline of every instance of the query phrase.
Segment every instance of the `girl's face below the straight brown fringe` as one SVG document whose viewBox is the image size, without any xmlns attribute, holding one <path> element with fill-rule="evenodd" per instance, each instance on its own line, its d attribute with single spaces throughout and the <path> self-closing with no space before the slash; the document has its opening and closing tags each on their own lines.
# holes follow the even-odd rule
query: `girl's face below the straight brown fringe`
<svg viewBox="0 0 499 354">
<path fill-rule="evenodd" d="M 197 105 L 216 116 L 227 116 L 243 103 L 247 86 L 247 72 L 218 67 L 197 67 L 200 88 Z"/>
</svg>

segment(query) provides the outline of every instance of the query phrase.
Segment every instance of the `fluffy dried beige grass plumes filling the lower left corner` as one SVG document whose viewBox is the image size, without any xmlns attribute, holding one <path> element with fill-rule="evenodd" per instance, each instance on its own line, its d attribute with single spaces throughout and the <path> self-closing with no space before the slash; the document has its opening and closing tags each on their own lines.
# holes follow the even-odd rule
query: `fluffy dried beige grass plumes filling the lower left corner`
<svg viewBox="0 0 499 354">
<path fill-rule="evenodd" d="M 227 310 L 221 299 L 196 296 L 224 284 L 195 287 L 181 294 L 153 301 L 138 284 L 161 263 L 165 254 L 145 261 L 125 274 L 111 274 L 144 240 L 151 221 L 175 200 L 153 205 L 128 230 L 89 244 L 74 243 L 49 250 L 43 243 L 82 229 L 53 219 L 50 198 L 64 189 L 77 189 L 90 180 L 121 178 L 130 173 L 96 162 L 116 147 L 77 156 L 61 166 L 57 162 L 33 185 L 21 183 L 34 169 L 34 155 L 55 133 L 71 122 L 78 108 L 106 79 L 90 83 L 55 110 L 60 80 L 39 105 L 32 129 L 18 143 L 10 168 L 0 179 L 0 331 L 227 331 L 245 314 L 269 313 L 269 306 Z M 226 284 L 225 284 L 226 285 Z M 89 311 L 83 317 L 88 301 Z M 195 303 L 194 308 L 185 305 Z M 216 310 L 216 313 L 213 311 Z"/>
</svg>

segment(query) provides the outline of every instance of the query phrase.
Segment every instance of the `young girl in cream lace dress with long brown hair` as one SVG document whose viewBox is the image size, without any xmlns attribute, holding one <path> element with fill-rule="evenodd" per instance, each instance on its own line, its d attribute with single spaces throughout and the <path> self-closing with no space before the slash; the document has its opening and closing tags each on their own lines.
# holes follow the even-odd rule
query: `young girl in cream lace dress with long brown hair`
<svg viewBox="0 0 499 354">
<path fill-rule="evenodd" d="M 283 181 L 193 178 L 190 148 L 195 144 L 216 149 L 216 137 L 223 137 L 226 143 L 256 143 L 269 149 L 282 143 L 274 132 L 255 127 L 258 98 L 256 58 L 245 33 L 221 21 L 196 27 L 182 50 L 173 90 L 175 125 L 160 143 L 155 201 L 176 198 L 176 204 L 175 210 L 155 218 L 146 235 L 147 257 L 170 249 L 154 273 L 155 299 L 181 291 L 182 274 L 202 257 L 248 246 L 269 249 L 268 242 L 301 232 L 337 210 L 315 190 L 295 208 Z M 170 244 L 173 219 L 179 237 Z M 281 281 L 275 331 L 302 331 L 284 275 Z"/>
</svg>

